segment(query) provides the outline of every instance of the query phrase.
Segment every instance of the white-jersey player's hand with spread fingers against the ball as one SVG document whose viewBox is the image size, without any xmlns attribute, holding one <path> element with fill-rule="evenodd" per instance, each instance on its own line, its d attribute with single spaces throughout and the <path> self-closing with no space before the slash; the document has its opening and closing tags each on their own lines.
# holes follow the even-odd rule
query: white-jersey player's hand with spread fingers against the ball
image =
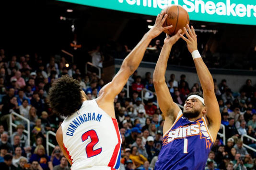
<svg viewBox="0 0 256 170">
<path fill-rule="evenodd" d="M 168 15 L 165 13 L 165 11 L 162 11 L 157 15 L 154 26 L 148 32 L 152 39 L 160 35 L 164 30 L 168 30 L 173 27 L 172 25 L 163 27 L 163 23 L 167 17 Z"/>
</svg>

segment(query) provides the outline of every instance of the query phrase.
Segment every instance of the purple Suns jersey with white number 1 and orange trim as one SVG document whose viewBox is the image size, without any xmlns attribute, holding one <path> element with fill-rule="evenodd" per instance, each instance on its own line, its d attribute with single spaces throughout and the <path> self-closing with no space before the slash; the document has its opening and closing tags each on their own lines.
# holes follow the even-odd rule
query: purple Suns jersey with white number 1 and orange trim
<svg viewBox="0 0 256 170">
<path fill-rule="evenodd" d="M 212 144 L 204 117 L 189 121 L 180 111 L 163 136 L 155 170 L 204 170 Z"/>
</svg>

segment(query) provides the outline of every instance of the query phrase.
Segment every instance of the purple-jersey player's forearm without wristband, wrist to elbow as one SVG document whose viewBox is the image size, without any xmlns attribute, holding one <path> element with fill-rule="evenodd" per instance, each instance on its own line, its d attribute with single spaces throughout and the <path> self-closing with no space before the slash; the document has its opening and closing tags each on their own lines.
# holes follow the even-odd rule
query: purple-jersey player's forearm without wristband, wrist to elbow
<svg viewBox="0 0 256 170">
<path fill-rule="evenodd" d="M 156 63 L 156 67 L 153 73 L 154 84 L 165 82 L 164 75 L 167 68 L 167 62 L 168 62 L 171 49 L 172 49 L 171 45 L 166 45 L 166 44 L 163 45 L 163 48 L 161 50 L 160 56 L 158 58 L 158 61 Z"/>
</svg>

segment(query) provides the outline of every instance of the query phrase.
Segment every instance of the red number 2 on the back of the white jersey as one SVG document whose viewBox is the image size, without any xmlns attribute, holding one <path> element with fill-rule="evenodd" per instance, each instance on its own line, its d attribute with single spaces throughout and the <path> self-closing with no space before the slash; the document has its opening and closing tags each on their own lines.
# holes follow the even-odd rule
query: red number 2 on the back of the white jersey
<svg viewBox="0 0 256 170">
<path fill-rule="evenodd" d="M 92 141 L 88 143 L 88 145 L 85 147 L 85 151 L 87 154 L 87 158 L 91 158 L 100 154 L 102 148 L 93 150 L 93 147 L 99 142 L 99 138 L 95 130 L 89 130 L 82 134 L 82 141 L 84 142 L 85 140 L 88 139 L 88 137 L 90 137 Z"/>
</svg>

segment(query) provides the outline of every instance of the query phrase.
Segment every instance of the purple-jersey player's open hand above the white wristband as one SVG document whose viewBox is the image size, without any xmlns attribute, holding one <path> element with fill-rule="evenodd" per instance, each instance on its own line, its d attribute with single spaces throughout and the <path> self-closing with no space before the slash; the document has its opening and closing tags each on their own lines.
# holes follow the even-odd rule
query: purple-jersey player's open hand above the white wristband
<svg viewBox="0 0 256 170">
<path fill-rule="evenodd" d="M 188 32 L 186 31 L 186 29 L 188 30 Z M 187 49 L 190 53 L 192 53 L 195 50 L 198 50 L 198 42 L 197 42 L 197 34 L 194 30 L 194 27 L 191 26 L 191 29 L 189 28 L 189 25 L 186 25 L 186 28 L 183 28 L 186 37 L 184 37 L 182 34 L 180 34 L 180 37 L 186 41 L 187 44 Z"/>
</svg>

